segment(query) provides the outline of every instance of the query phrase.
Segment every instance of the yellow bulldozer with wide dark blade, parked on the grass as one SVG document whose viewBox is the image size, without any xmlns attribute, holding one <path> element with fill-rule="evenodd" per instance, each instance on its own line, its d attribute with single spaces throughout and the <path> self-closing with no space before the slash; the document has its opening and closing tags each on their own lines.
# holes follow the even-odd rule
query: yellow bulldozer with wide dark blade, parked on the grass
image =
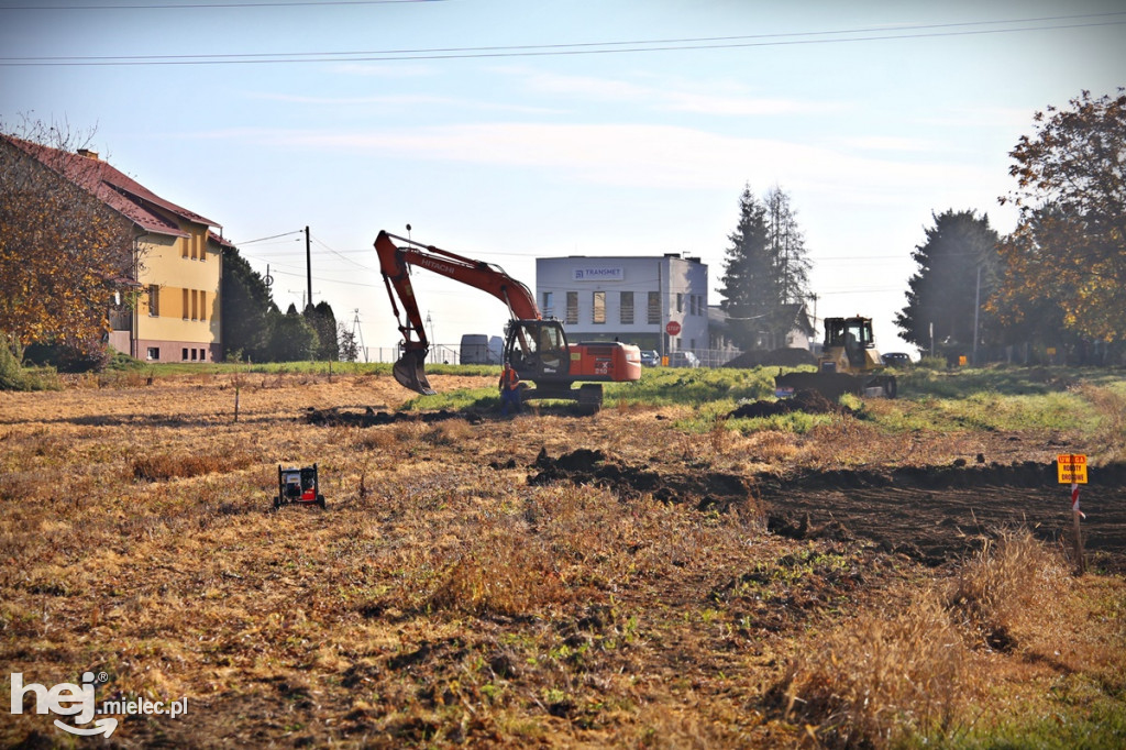
<svg viewBox="0 0 1126 750">
<path fill-rule="evenodd" d="M 817 372 L 784 374 L 779 369 L 775 393 L 787 398 L 798 391 L 817 391 L 830 401 L 846 393 L 894 399 L 895 376 L 883 370 L 884 360 L 876 351 L 870 318 L 826 318 Z"/>
</svg>

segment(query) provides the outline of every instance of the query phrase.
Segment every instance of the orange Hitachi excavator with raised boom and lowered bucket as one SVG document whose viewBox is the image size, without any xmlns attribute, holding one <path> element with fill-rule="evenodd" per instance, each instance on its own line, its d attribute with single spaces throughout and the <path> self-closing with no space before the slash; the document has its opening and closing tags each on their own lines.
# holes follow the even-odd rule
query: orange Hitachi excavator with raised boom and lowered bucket
<svg viewBox="0 0 1126 750">
<path fill-rule="evenodd" d="M 535 383 L 534 389 L 524 392 L 526 400 L 563 399 L 597 410 L 602 403 L 602 383 L 641 380 L 637 347 L 617 341 L 568 342 L 563 324 L 554 318 L 545 320 L 531 291 L 498 266 L 384 231 L 375 238 L 375 251 L 379 256 L 379 270 L 391 297 L 391 309 L 403 334 L 403 355 L 392 369 L 403 387 L 427 395 L 435 393 L 426 376 L 430 343 L 411 286 L 412 266 L 488 292 L 508 306 L 511 320 L 504 358 L 521 381 Z M 399 304 L 402 304 L 405 320 Z"/>
</svg>

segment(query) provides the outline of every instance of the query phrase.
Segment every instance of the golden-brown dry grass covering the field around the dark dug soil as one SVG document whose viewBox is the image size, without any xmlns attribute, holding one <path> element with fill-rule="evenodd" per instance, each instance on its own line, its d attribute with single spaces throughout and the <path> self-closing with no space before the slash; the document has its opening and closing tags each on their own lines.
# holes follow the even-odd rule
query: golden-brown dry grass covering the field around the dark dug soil
<svg viewBox="0 0 1126 750">
<path fill-rule="evenodd" d="M 882 439 L 866 426 L 686 435 L 686 408 L 633 404 L 311 427 L 309 408 L 411 394 L 310 375 L 244 376 L 235 423 L 224 375 L 87 385 L 2 396 L 0 662 L 44 685 L 105 671 L 99 697 L 189 698 L 186 720 L 124 722 L 125 747 L 801 747 L 805 722 L 819 742 L 879 743 L 964 725 L 950 691 L 978 689 L 967 664 L 1031 670 L 1020 660 L 1046 653 L 1028 680 L 1063 669 L 997 593 L 1054 581 L 1046 566 L 1017 578 L 1035 557 L 1018 542 L 951 578 L 859 542 L 767 534 L 753 507 L 526 482 L 540 447 L 678 473 L 854 463 L 891 444 L 820 444 Z M 271 512 L 277 464 L 313 462 L 328 509 Z M 1097 580 L 1096 604 L 1075 595 L 1089 616 L 1063 597 L 1058 616 L 1084 649 L 1070 679 L 1096 673 L 1109 694 L 1098 670 L 1120 666 L 1107 654 L 1126 651 L 1126 618 L 1120 581 Z M 947 587 L 962 593 L 927 593 Z M 997 624 L 1016 649 L 981 648 Z M 1017 680 L 986 666 L 980 689 Z M 46 718 L 9 716 L 0 744 L 61 742 Z"/>
</svg>

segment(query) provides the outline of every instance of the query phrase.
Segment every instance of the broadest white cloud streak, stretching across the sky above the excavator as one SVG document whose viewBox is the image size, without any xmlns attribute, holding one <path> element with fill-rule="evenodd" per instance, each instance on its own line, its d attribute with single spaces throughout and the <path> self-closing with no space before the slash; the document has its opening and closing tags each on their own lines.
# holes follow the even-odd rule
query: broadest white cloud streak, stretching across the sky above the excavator
<svg viewBox="0 0 1126 750">
<path fill-rule="evenodd" d="M 751 179 L 832 194 L 838 202 L 902 204 L 920 186 L 983 185 L 986 167 L 886 161 L 779 140 L 659 125 L 488 123 L 379 130 L 226 130 L 206 137 L 285 149 L 332 149 L 357 159 L 409 159 L 546 170 L 552 179 L 661 189 L 729 189 Z"/>
</svg>

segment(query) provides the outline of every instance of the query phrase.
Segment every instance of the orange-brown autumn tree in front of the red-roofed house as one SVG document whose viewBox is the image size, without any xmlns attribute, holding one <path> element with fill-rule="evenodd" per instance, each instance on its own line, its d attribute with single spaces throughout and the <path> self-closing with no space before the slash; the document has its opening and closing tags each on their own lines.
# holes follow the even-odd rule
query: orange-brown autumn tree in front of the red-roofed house
<svg viewBox="0 0 1126 750">
<path fill-rule="evenodd" d="M 97 162 L 77 145 L 42 123 L 0 134 L 0 331 L 17 356 L 32 342 L 104 349 L 115 294 L 131 298 L 133 224 L 82 187 L 77 170 Z"/>
</svg>

